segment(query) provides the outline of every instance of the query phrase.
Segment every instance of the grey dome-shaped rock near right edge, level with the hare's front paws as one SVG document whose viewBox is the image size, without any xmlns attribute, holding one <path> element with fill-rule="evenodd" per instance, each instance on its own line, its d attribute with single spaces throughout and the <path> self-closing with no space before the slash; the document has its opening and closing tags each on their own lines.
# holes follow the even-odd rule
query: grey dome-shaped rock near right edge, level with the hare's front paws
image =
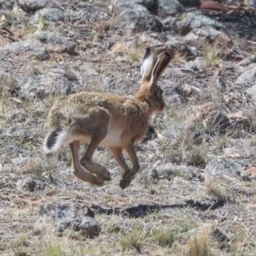
<svg viewBox="0 0 256 256">
<path fill-rule="evenodd" d="M 226 157 L 216 158 L 207 163 L 204 170 L 206 181 L 209 179 L 224 182 L 241 183 L 240 175 L 243 167 Z"/>
</svg>

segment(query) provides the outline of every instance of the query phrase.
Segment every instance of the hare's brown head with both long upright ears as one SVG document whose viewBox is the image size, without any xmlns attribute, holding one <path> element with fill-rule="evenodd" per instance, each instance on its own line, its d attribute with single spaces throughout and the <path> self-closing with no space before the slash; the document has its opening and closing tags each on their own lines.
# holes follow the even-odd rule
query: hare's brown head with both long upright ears
<svg viewBox="0 0 256 256">
<path fill-rule="evenodd" d="M 157 81 L 165 71 L 172 57 L 169 53 L 164 52 L 157 61 L 157 52 L 154 48 L 147 48 L 143 59 L 141 73 L 143 76 L 140 90 L 136 98 L 148 102 L 152 112 L 161 112 L 166 107 L 163 98 L 163 90 L 157 86 Z"/>
</svg>

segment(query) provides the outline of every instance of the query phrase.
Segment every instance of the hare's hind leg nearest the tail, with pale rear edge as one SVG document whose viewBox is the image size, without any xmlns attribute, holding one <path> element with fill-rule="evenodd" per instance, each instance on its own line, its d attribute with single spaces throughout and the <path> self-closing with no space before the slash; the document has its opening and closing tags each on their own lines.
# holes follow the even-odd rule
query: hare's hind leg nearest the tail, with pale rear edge
<svg viewBox="0 0 256 256">
<path fill-rule="evenodd" d="M 80 166 L 79 163 L 79 148 L 80 148 L 80 142 L 79 141 L 73 141 L 73 143 L 69 144 L 69 147 L 72 152 L 72 172 L 73 175 L 78 177 L 84 182 L 91 183 L 93 185 L 101 186 L 103 184 L 103 181 L 101 178 L 96 177 L 92 175 L 90 172 L 86 172 L 82 166 Z"/>
</svg>

